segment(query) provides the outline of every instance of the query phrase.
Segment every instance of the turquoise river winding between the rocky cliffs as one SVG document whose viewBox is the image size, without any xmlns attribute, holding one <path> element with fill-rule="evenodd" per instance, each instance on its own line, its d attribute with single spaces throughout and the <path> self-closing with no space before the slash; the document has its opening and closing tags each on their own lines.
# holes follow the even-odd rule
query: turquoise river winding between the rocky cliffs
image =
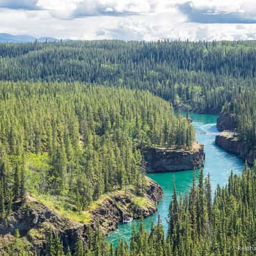
<svg viewBox="0 0 256 256">
<path fill-rule="evenodd" d="M 210 173 L 212 191 L 214 191 L 217 184 L 221 186 L 227 184 L 230 170 L 233 170 L 234 173 L 241 173 L 243 171 L 244 161 L 214 144 L 215 136 L 218 132 L 216 128 L 217 115 L 191 114 L 190 117 L 196 129 L 196 140 L 205 146 L 204 173 L 205 175 Z M 199 170 L 196 170 L 196 177 L 198 177 L 198 173 Z M 145 227 L 150 230 L 152 221 L 156 223 L 157 216 L 160 214 L 164 230 L 166 231 L 168 229 L 166 218 L 168 217 L 168 208 L 173 193 L 173 177 L 177 192 L 183 195 L 184 192 L 189 191 L 192 184 L 193 171 L 150 173 L 148 177 L 155 180 L 163 188 L 164 197 L 159 202 L 156 214 L 145 218 L 143 222 Z M 140 221 L 134 221 L 138 226 Z M 132 223 L 120 224 L 118 225 L 118 230 L 111 232 L 107 240 L 113 242 L 113 245 L 116 246 L 120 238 L 129 241 L 131 233 Z"/>
</svg>

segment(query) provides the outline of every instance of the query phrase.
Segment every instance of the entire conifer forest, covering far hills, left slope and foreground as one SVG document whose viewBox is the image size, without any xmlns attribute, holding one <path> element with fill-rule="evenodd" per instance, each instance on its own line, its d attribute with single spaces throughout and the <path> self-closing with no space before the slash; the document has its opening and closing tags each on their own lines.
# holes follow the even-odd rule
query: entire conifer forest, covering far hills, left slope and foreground
<svg viewBox="0 0 256 256">
<path fill-rule="evenodd" d="M 192 150 L 195 129 L 174 108 L 236 114 L 239 140 L 256 145 L 255 42 L 0 44 L 0 219 L 29 197 L 79 219 L 102 195 L 143 195 L 146 148 Z M 230 170 L 231 172 L 231 170 Z M 141 220 L 131 240 L 100 228 L 75 250 L 49 230 L 42 255 L 212 256 L 256 241 L 256 166 L 212 191 L 201 170 L 188 195 L 174 188 L 168 232 Z M 23 207 L 23 206 L 21 206 Z M 36 255 L 17 229 L 2 255 Z"/>
</svg>

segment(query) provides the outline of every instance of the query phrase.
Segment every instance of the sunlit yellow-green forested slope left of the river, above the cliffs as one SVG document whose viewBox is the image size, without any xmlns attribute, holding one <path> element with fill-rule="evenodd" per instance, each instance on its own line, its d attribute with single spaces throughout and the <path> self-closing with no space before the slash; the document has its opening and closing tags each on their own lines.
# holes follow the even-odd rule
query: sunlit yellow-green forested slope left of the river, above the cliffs
<svg viewBox="0 0 256 256">
<path fill-rule="evenodd" d="M 145 184 L 141 150 L 191 148 L 195 131 L 148 92 L 81 83 L 0 83 L 0 213 L 59 196 L 82 211 L 103 193 Z M 66 209 L 67 210 L 67 209 Z"/>
</svg>

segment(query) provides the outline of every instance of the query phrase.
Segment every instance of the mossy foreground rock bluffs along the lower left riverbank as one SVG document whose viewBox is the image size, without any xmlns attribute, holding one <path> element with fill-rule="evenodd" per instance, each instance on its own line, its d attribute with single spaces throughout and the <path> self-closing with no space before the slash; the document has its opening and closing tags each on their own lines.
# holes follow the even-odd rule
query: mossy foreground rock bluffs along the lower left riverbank
<svg viewBox="0 0 256 256">
<path fill-rule="evenodd" d="M 8 220 L 0 221 L 0 254 L 1 244 L 12 239 L 15 229 L 19 229 L 20 235 L 28 241 L 33 250 L 40 255 L 44 248 L 45 237 L 50 228 L 58 234 L 65 248 L 74 249 L 77 237 L 81 237 L 86 244 L 88 229 L 95 228 L 99 222 L 104 234 L 117 228 L 118 223 L 125 216 L 140 218 L 150 216 L 157 211 L 157 204 L 163 197 L 163 190 L 156 182 L 147 179 L 147 186 L 141 196 L 136 196 L 133 187 L 126 191 L 116 191 L 104 196 L 100 202 L 95 202 L 96 207 L 89 210 L 87 214 L 92 216 L 89 223 L 79 223 L 69 220 L 52 211 L 50 207 L 42 204 L 32 197 L 28 197 L 26 204 L 13 205 L 13 212 Z"/>
</svg>

